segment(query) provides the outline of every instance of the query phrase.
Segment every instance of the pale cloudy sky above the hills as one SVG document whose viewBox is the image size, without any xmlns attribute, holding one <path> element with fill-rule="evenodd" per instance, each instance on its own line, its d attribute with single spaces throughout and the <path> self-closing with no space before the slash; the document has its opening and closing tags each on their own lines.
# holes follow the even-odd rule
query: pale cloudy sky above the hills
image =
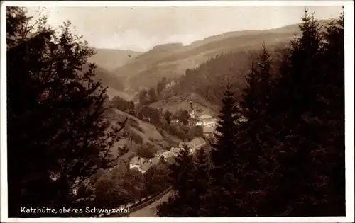
<svg viewBox="0 0 355 223">
<path fill-rule="evenodd" d="M 315 18 L 337 18 L 341 6 L 307 6 Z M 38 8 L 29 8 L 36 17 Z M 301 22 L 305 6 L 52 7 L 54 28 L 69 20 L 92 47 L 146 51 L 155 45 L 189 45 L 211 35 L 268 30 Z"/>
</svg>

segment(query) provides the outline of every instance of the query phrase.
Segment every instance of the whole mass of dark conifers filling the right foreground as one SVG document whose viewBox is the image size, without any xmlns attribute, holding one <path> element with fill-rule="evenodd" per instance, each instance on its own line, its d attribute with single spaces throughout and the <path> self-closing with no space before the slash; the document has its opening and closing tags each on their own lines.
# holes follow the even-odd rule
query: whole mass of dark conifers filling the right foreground
<svg viewBox="0 0 355 223">
<path fill-rule="evenodd" d="M 264 47 L 241 101 L 227 86 L 212 164 L 182 151 L 160 217 L 345 215 L 344 16 L 302 21 L 276 74 Z"/>
</svg>

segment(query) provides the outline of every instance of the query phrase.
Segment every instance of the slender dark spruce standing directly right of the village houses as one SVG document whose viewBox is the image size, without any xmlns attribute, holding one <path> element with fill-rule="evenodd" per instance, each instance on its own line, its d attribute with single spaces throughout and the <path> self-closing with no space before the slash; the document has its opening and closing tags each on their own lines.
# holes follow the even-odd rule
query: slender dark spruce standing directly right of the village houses
<svg viewBox="0 0 355 223">
<path fill-rule="evenodd" d="M 238 148 L 236 133 L 238 129 L 239 109 L 231 91 L 231 85 L 226 86 L 223 106 L 216 129 L 216 143 L 212 144 L 211 159 L 212 176 L 211 193 L 207 198 L 209 216 L 235 216 L 238 212 L 239 200 L 236 198 L 236 172 L 239 163 L 236 159 Z"/>
</svg>

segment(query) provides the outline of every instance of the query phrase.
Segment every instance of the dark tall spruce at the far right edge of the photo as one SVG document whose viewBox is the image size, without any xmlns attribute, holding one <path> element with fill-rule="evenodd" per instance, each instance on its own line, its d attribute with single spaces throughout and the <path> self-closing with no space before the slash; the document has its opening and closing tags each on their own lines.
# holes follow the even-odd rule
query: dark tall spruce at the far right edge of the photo
<svg viewBox="0 0 355 223">
<path fill-rule="evenodd" d="M 344 15 L 332 20 L 322 34 L 323 64 L 315 84 L 319 106 L 308 116 L 308 122 L 318 132 L 314 138 L 318 148 L 312 153 L 317 160 L 312 187 L 325 195 L 314 209 L 339 216 L 345 215 Z"/>
</svg>

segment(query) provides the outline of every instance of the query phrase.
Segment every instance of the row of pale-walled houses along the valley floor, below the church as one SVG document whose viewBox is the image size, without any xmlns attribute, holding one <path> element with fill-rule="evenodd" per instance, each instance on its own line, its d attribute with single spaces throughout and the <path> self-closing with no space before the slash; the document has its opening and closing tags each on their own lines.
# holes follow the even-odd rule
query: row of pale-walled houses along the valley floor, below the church
<svg viewBox="0 0 355 223">
<path fill-rule="evenodd" d="M 197 149 L 206 144 L 206 141 L 202 139 L 202 137 L 197 137 L 192 139 L 190 142 L 187 142 L 187 147 L 190 148 L 190 153 L 194 153 Z M 171 147 L 169 151 L 165 151 L 163 149 L 158 150 L 155 153 L 155 157 L 151 159 L 146 159 L 143 157 L 133 157 L 129 162 L 129 168 L 138 168 L 138 171 L 141 173 L 146 173 L 151 166 L 158 164 L 161 160 L 165 161 L 168 164 L 173 164 L 175 161 L 175 157 L 178 156 L 179 152 L 184 149 L 185 144 L 180 142 L 178 147 Z"/>
</svg>

